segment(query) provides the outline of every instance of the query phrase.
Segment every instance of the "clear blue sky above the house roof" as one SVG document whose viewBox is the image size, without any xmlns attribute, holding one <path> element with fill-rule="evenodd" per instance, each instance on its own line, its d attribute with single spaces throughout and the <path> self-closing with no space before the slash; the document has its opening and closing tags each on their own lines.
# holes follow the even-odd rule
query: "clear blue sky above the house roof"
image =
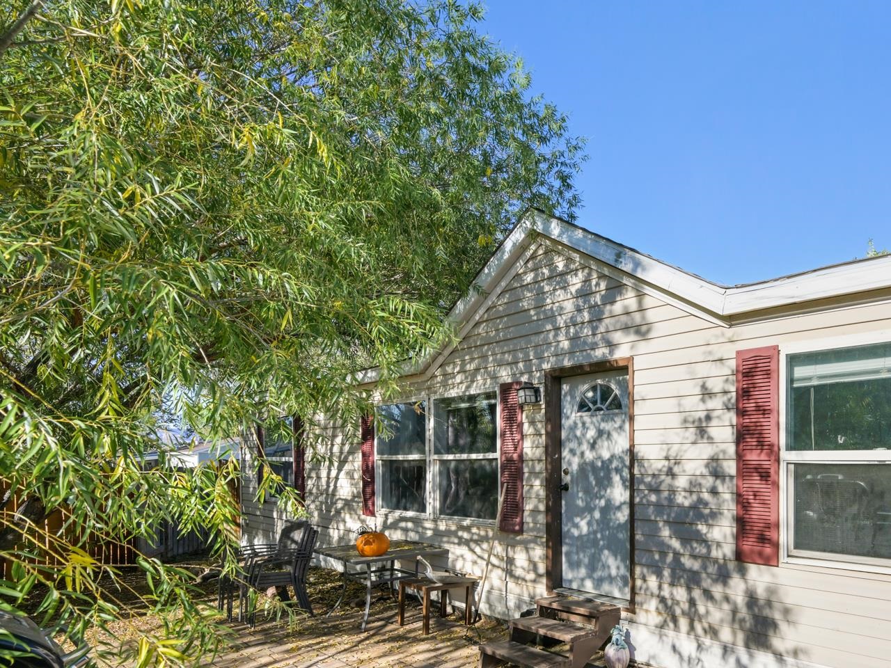
<svg viewBox="0 0 891 668">
<path fill-rule="evenodd" d="M 891 2 L 486 5 L 588 138 L 580 224 L 730 284 L 891 248 Z"/>
</svg>

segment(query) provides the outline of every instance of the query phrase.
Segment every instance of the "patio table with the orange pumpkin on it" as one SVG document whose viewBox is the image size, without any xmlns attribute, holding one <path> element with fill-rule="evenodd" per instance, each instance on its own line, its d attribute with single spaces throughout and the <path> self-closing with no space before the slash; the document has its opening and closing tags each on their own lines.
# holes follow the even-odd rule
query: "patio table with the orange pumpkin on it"
<svg viewBox="0 0 891 668">
<path fill-rule="evenodd" d="M 418 557 L 446 556 L 448 550 L 428 542 L 393 541 L 390 543 L 390 549 L 379 557 L 363 557 L 356 551 L 356 543 L 351 542 L 347 545 L 316 548 L 315 554 L 339 561 L 343 568 L 341 572 L 343 587 L 340 590 L 340 597 L 328 611 L 328 615 L 340 607 L 340 602 L 347 591 L 347 582 L 353 580 L 364 583 L 365 614 L 362 617 L 362 630 L 364 631 L 368 624 L 368 612 L 372 607 L 372 591 L 375 587 L 387 585 L 392 588 L 400 580 L 418 577 Z M 408 559 L 415 560 L 412 570 L 396 568 L 396 561 Z"/>
</svg>

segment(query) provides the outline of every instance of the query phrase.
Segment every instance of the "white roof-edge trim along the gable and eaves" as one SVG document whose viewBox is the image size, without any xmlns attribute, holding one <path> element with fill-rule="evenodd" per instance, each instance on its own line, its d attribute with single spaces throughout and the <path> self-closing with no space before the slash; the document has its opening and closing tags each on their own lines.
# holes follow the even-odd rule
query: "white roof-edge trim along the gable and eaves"
<svg viewBox="0 0 891 668">
<path fill-rule="evenodd" d="M 778 311 L 788 315 L 836 306 L 813 305 L 816 300 L 859 303 L 869 300 L 869 295 L 864 293 L 891 289 L 891 255 L 852 260 L 770 281 L 727 286 L 685 272 L 576 224 L 537 209 L 527 209 L 479 271 L 470 291 L 447 315 L 446 319 L 454 323 L 459 341 L 523 264 L 524 256 L 531 253 L 536 240 L 548 240 L 601 273 L 723 327 L 769 318 Z M 879 295 L 879 298 L 887 297 L 887 294 Z M 425 359 L 407 362 L 403 375 L 429 375 L 453 349 L 454 346 L 450 346 Z M 359 377 L 360 384 L 374 382 L 379 377 L 378 370 L 366 370 Z"/>
</svg>

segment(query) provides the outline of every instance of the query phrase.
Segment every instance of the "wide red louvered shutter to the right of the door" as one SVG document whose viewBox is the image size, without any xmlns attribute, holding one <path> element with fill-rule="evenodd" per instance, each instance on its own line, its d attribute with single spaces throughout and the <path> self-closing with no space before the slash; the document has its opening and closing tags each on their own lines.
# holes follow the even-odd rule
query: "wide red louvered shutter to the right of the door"
<svg viewBox="0 0 891 668">
<path fill-rule="evenodd" d="M 780 563 L 780 349 L 736 354 L 736 558 Z"/>
</svg>

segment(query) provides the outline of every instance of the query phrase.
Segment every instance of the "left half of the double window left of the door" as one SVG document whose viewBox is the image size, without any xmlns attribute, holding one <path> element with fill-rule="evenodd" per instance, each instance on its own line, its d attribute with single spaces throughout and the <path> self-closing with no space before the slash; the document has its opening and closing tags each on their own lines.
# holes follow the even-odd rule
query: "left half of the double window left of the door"
<svg viewBox="0 0 891 668">
<path fill-rule="evenodd" d="M 380 507 L 427 512 L 427 412 L 424 402 L 378 408 Z"/>
</svg>

